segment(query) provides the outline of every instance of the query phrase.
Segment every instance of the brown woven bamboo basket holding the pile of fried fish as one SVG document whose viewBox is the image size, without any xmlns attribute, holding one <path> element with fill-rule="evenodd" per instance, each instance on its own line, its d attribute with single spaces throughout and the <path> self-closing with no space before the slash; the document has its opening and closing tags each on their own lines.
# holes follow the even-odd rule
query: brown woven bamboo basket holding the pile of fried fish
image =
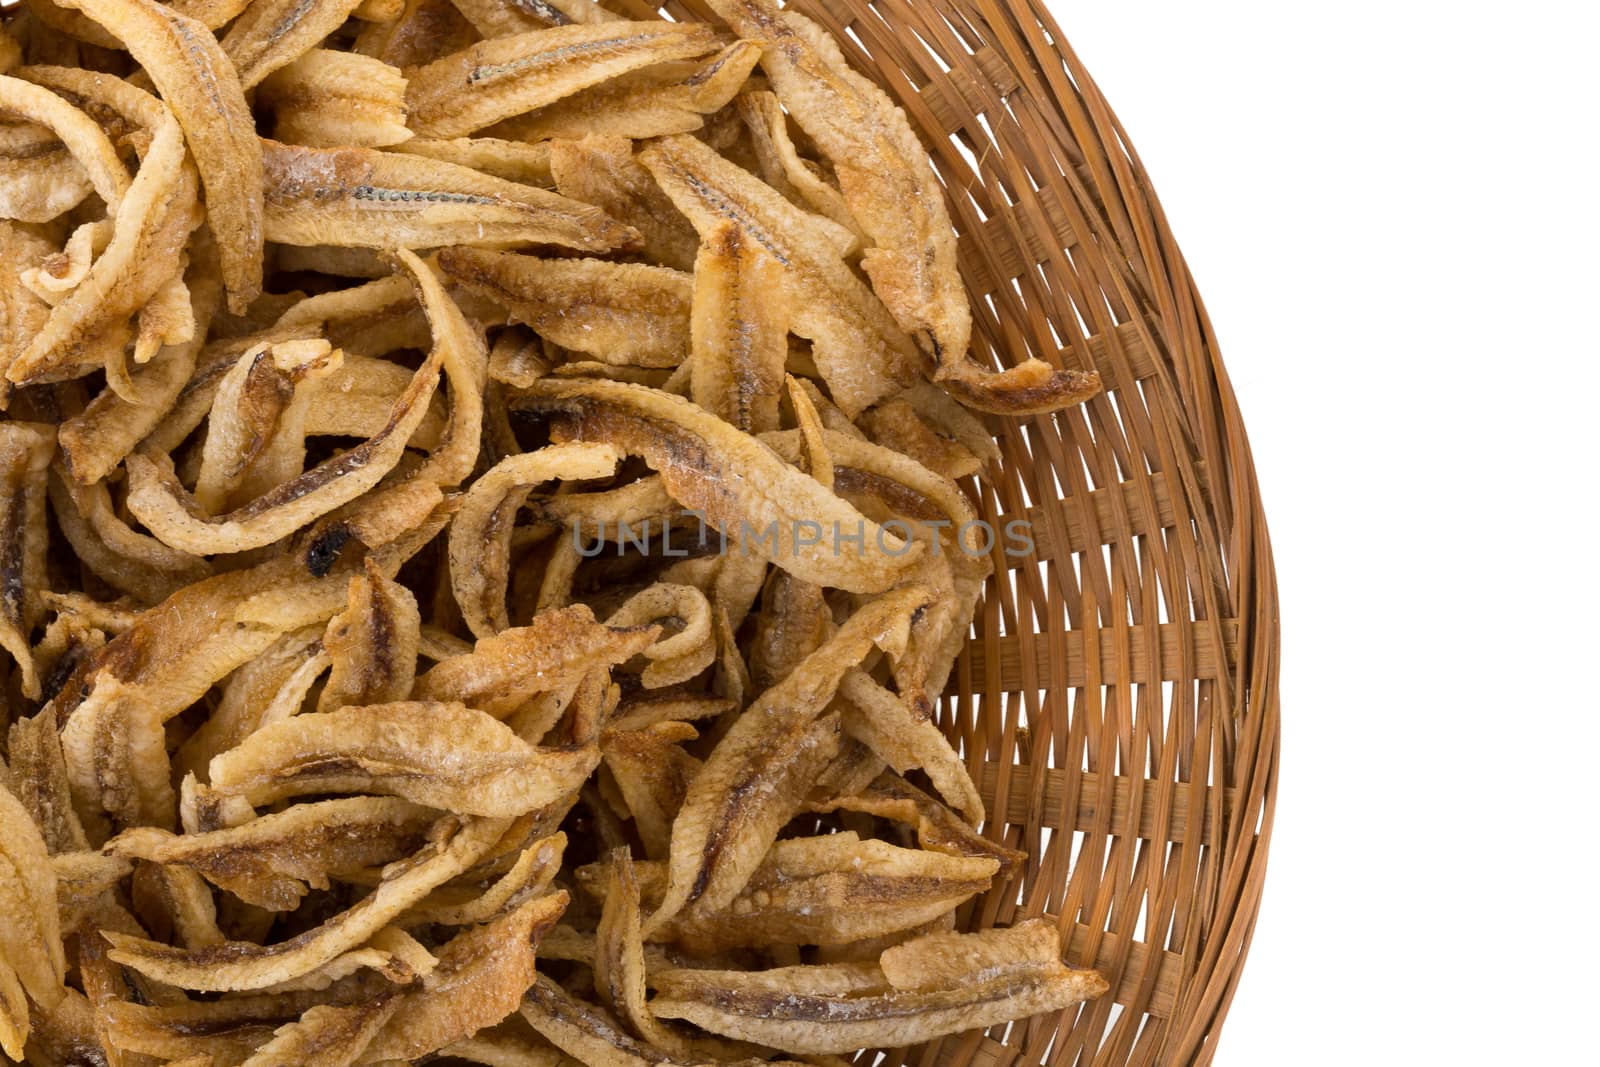
<svg viewBox="0 0 1600 1067">
<path fill-rule="evenodd" d="M 990 582 L 939 713 L 986 832 L 1029 853 L 966 926 L 1053 917 L 1069 961 L 1112 992 L 878 1062 L 1210 1062 L 1272 832 L 1278 611 L 1205 307 L 1045 0 L 792 3 L 931 149 L 974 357 L 1035 355 L 1106 382 L 1080 410 L 992 421 L 1003 459 L 970 488 L 997 530 L 1029 520 L 1035 552 Z M 698 0 L 667 11 L 712 18 Z"/>
</svg>

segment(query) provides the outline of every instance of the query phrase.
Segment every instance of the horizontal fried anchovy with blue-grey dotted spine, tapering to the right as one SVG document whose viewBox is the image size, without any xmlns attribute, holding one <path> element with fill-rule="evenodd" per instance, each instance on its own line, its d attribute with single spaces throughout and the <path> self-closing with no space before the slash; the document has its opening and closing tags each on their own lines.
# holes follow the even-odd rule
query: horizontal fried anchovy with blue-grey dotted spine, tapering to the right
<svg viewBox="0 0 1600 1067">
<path fill-rule="evenodd" d="M 262 146 L 266 234 L 285 245 L 485 242 L 608 251 L 637 238 L 598 208 L 454 163 L 374 149 Z"/>
</svg>

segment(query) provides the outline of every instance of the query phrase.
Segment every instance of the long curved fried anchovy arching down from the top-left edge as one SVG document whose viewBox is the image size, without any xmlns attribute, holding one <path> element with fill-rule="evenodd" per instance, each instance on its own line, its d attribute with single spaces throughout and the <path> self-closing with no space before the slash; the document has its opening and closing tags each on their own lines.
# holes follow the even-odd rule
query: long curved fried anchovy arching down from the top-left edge
<svg viewBox="0 0 1600 1067">
<path fill-rule="evenodd" d="M 182 125 L 205 182 L 227 306 L 243 315 L 261 293 L 262 168 L 256 123 L 210 27 L 155 0 L 62 0 L 117 37 Z"/>
</svg>

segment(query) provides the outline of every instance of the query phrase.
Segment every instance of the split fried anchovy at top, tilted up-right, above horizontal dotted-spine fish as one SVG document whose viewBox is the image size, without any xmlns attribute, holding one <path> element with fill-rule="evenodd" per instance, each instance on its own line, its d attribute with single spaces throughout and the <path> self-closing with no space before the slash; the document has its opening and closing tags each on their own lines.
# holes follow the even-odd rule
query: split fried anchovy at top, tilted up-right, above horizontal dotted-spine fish
<svg viewBox="0 0 1600 1067">
<path fill-rule="evenodd" d="M 480 42 L 411 74 L 406 106 L 424 138 L 459 138 L 656 62 L 718 46 L 709 26 L 602 22 Z"/>
</svg>

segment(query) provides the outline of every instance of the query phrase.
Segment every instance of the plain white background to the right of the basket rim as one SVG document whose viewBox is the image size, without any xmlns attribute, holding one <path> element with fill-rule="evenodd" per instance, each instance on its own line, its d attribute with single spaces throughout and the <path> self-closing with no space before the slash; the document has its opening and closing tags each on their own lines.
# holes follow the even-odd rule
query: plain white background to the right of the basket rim
<svg viewBox="0 0 1600 1067">
<path fill-rule="evenodd" d="M 1053 8 L 1211 310 L 1278 561 L 1216 1062 L 1600 1062 L 1590 5 Z"/>
</svg>

